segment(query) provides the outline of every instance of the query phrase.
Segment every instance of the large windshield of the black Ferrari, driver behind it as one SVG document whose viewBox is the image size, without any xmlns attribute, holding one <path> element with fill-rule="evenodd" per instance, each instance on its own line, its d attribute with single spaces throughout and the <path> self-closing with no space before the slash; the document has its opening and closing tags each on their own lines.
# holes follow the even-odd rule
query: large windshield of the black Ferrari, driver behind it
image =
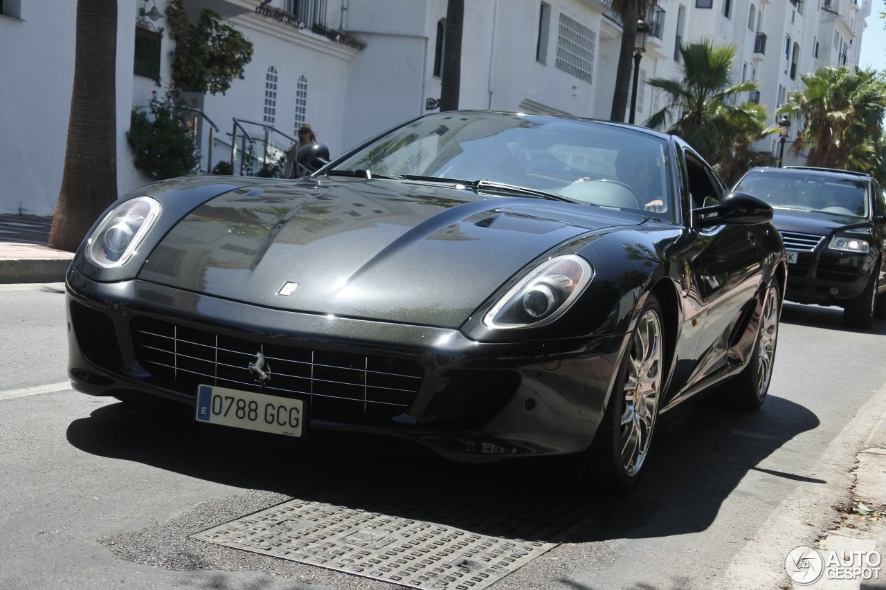
<svg viewBox="0 0 886 590">
<path fill-rule="evenodd" d="M 380 137 L 334 169 L 424 182 L 488 180 L 590 205 L 670 212 L 667 153 L 663 139 L 593 121 L 436 113 Z"/>
</svg>

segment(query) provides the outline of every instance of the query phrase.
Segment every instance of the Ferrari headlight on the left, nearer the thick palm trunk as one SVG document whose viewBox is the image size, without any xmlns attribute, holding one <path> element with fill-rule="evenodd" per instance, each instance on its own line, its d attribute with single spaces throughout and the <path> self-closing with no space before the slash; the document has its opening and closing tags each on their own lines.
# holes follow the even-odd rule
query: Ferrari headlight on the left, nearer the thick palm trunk
<svg viewBox="0 0 886 590">
<path fill-rule="evenodd" d="M 161 209 L 159 201 L 151 197 L 136 197 L 120 204 L 89 236 L 86 257 L 104 268 L 123 266 L 157 221 Z"/>
</svg>

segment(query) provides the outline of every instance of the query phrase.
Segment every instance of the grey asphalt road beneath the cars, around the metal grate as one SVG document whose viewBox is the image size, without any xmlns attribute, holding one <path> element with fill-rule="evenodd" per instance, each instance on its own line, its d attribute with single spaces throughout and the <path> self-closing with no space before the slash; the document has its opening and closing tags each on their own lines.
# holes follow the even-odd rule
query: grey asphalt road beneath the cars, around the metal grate
<svg viewBox="0 0 886 590">
<path fill-rule="evenodd" d="M 562 521 L 565 536 L 545 539 L 559 544 L 495 590 L 780 587 L 784 556 L 828 528 L 886 410 L 884 335 L 886 322 L 848 331 L 838 310 L 787 305 L 764 408 L 679 410 L 640 487 L 606 498 L 571 489 L 562 462 L 456 465 L 84 396 L 66 385 L 62 286 L 0 285 L 0 587 L 398 587 L 187 538 L 324 493 L 406 518 L 432 498 L 422 518 L 506 538 L 525 523 L 488 525 L 496 506 Z"/>
</svg>

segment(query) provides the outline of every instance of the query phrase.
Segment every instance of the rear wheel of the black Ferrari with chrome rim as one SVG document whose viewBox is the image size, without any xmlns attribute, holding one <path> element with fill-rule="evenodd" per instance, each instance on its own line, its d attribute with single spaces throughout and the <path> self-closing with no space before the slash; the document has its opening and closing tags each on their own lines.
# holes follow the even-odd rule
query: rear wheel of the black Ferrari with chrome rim
<svg viewBox="0 0 886 590">
<path fill-rule="evenodd" d="M 763 298 L 757 341 L 750 353 L 750 361 L 738 377 L 726 384 L 735 406 L 742 409 L 757 409 L 763 405 L 773 376 L 781 315 L 781 291 L 778 283 L 771 283 Z"/>
</svg>

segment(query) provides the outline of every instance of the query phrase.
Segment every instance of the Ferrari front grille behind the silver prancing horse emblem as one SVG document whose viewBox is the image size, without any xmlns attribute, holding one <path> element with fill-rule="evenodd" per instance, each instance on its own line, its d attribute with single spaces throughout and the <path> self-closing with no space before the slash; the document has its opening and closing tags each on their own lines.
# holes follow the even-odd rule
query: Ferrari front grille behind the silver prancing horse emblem
<svg viewBox="0 0 886 590">
<path fill-rule="evenodd" d="M 171 322 L 135 318 L 136 358 L 154 384 L 196 395 L 199 384 L 307 400 L 308 415 L 346 423 L 383 423 L 416 398 L 424 369 L 416 361 L 261 343 Z M 270 379 L 255 371 L 264 354 Z"/>
</svg>

